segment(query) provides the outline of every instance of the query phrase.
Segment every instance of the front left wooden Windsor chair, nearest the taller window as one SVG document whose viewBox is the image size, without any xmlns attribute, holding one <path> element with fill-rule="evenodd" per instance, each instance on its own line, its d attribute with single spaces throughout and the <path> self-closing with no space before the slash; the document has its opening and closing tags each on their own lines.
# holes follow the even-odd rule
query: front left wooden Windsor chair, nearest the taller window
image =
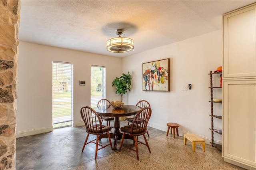
<svg viewBox="0 0 256 170">
<path fill-rule="evenodd" d="M 112 127 L 102 125 L 102 122 L 100 121 L 100 117 L 99 117 L 98 113 L 88 106 L 82 107 L 80 112 L 81 112 L 81 117 L 82 117 L 85 127 L 86 127 L 86 132 L 88 133 L 86 136 L 86 139 L 84 141 L 84 146 L 83 146 L 82 152 L 84 151 L 85 145 L 92 142 L 92 143 L 96 144 L 95 159 L 97 159 L 98 150 L 105 148 L 108 145 L 110 145 L 111 149 L 113 149 L 111 139 L 110 139 L 110 134 L 109 134 L 109 131 L 112 129 Z M 99 120 L 99 122 L 97 123 L 96 120 Z M 99 135 L 104 134 L 104 133 L 108 134 L 108 140 L 109 140 L 109 144 L 106 144 L 105 146 L 98 143 Z M 97 138 L 94 139 L 94 140 L 96 140 L 96 142 L 94 142 L 94 140 L 92 140 L 92 141 L 86 143 L 88 140 L 89 134 L 94 134 L 97 136 Z M 101 148 L 98 149 L 98 145 L 100 145 Z"/>
</svg>

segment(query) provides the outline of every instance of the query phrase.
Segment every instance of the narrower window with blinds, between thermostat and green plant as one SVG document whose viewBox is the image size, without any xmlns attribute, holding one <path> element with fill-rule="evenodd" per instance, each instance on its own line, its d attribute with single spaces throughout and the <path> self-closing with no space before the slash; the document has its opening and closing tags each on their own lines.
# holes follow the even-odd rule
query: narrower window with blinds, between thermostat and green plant
<svg viewBox="0 0 256 170">
<path fill-rule="evenodd" d="M 100 99 L 106 98 L 106 69 L 91 66 L 91 107 L 96 107 Z"/>
</svg>

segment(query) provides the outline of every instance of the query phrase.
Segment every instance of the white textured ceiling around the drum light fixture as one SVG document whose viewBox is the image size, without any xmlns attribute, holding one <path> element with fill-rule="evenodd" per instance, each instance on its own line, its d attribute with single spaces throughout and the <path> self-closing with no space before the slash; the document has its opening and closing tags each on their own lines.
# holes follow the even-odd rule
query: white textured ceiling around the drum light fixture
<svg viewBox="0 0 256 170">
<path fill-rule="evenodd" d="M 126 57 L 222 28 L 221 15 L 256 0 L 21 0 L 20 41 Z M 134 40 L 126 53 L 106 40 Z"/>
</svg>

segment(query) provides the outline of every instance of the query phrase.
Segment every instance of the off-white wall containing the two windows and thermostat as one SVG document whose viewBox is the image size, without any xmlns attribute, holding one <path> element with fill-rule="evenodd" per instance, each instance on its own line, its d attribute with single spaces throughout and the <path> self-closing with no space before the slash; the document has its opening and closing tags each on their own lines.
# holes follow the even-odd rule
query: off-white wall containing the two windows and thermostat
<svg viewBox="0 0 256 170">
<path fill-rule="evenodd" d="M 74 126 L 83 125 L 80 109 L 90 106 L 90 66 L 106 67 L 106 98 L 120 100 L 112 81 L 122 73 L 121 58 L 20 42 L 18 58 L 17 137 L 51 131 L 52 61 L 74 64 Z M 114 65 L 114 67 L 113 67 Z M 80 86 L 79 80 L 86 85 Z"/>
</svg>

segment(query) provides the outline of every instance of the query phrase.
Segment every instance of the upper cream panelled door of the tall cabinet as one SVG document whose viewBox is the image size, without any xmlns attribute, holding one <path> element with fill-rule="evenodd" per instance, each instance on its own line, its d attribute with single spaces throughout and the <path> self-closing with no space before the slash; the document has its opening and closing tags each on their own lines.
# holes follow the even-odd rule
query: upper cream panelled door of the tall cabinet
<svg viewBox="0 0 256 170">
<path fill-rule="evenodd" d="M 222 78 L 256 76 L 256 5 L 223 15 Z"/>
</svg>

